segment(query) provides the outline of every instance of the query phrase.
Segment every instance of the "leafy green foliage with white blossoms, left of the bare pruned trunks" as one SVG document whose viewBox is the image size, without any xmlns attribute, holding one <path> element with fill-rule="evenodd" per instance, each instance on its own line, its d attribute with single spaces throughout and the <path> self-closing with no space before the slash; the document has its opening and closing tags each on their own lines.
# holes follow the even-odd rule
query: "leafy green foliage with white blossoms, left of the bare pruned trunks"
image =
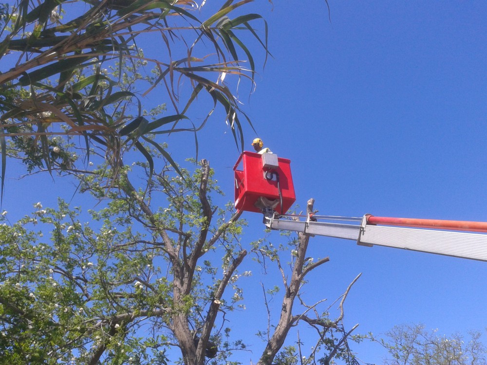
<svg viewBox="0 0 487 365">
<path fill-rule="evenodd" d="M 207 261 L 205 269 L 195 268 L 191 291 L 173 300 L 174 266 L 154 223 L 172 232 L 174 244 L 186 238 L 179 248 L 181 260 L 207 224 L 197 196 L 201 171 L 182 173 L 185 179 L 166 173 L 152 181 L 170 207 L 153 217 L 129 197 L 90 211 L 91 222 L 81 220 L 81 210 L 64 201 L 56 209 L 37 203 L 32 214 L 12 225 L 0 216 L 1 358 L 10 364 L 87 364 L 100 350 L 104 364 L 165 364 L 169 353 L 174 358 L 171 318 L 183 315 L 193 329 L 201 328 L 202 314 L 213 300 L 208 289 L 221 275 Z M 219 189 L 210 179 L 207 191 L 214 190 Z M 220 214 L 223 221 L 227 212 Z M 205 252 L 238 246 L 232 240 L 241 223 L 235 222 Z M 222 300 L 221 309 L 233 310 L 235 303 Z M 141 337 L 147 328 L 157 331 Z M 224 341 L 218 333 L 214 340 Z M 225 341 L 225 356 L 219 356 L 242 347 Z"/>
</svg>

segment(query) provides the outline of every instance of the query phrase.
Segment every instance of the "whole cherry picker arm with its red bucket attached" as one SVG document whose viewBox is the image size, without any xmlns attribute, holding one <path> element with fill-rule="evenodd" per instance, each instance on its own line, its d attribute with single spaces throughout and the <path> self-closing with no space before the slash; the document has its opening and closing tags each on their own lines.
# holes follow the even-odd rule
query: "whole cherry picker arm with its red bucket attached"
<svg viewBox="0 0 487 365">
<path fill-rule="evenodd" d="M 271 229 L 351 239 L 374 245 L 487 261 L 487 222 L 286 215 L 296 200 L 290 161 L 244 151 L 234 167 L 235 208 L 264 214 Z M 462 232 L 459 232 L 462 231 Z"/>
</svg>

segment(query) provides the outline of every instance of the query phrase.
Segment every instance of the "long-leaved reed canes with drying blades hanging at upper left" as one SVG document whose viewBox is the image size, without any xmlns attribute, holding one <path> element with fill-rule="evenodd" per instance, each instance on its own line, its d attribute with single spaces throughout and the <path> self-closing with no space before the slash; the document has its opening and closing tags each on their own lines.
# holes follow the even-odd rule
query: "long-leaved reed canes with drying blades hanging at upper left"
<svg viewBox="0 0 487 365">
<path fill-rule="evenodd" d="M 227 0 L 218 7 L 205 0 L 17 0 L 2 5 L 2 191 L 6 139 L 24 150 L 31 167 L 50 170 L 57 158 L 52 137 L 68 135 L 81 137 L 76 143 L 88 159 L 92 148 L 99 148 L 118 168 L 123 152 L 135 146 L 152 168 L 143 140 L 171 160 L 165 141 L 149 139 L 148 133 L 196 133 L 219 105 L 235 142 L 243 146 L 242 119 L 250 121 L 240 109 L 236 85 L 246 79 L 253 86 L 255 62 L 245 45 L 249 36 L 268 54 L 265 21 L 245 12 L 251 1 Z M 252 25 L 256 21 L 263 24 L 260 34 Z M 141 46 L 158 52 L 144 55 Z M 141 98 L 152 90 L 162 103 L 144 111 Z M 203 93 L 208 98 L 197 109 L 206 111 L 197 114 L 196 125 L 191 109 Z"/>
</svg>

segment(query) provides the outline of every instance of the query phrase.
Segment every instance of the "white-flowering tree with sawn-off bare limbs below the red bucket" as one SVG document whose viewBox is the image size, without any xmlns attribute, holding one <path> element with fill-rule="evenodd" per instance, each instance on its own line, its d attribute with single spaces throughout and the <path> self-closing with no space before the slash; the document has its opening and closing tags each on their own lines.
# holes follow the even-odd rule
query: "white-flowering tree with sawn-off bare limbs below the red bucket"
<svg viewBox="0 0 487 365">
<path fill-rule="evenodd" d="M 145 199 L 128 178 L 129 166 L 108 197 L 97 183 L 105 168 L 78 175 L 83 191 L 107 201 L 90 211 L 90 221 L 64 201 L 56 209 L 38 202 L 13 224 L 1 216 L 2 358 L 11 364 L 240 364 L 236 351 L 248 351 L 249 340 L 232 321 L 245 310 L 240 282 L 251 275 L 251 254 L 264 272 L 275 265 L 282 284 L 266 288 L 262 279 L 269 318 L 256 324 L 263 346 L 249 357 L 260 365 L 357 364 L 347 341 L 356 326 L 345 330 L 342 322 L 351 286 L 336 318 L 323 300 L 308 304 L 301 292 L 306 275 L 328 261 L 306 256 L 308 236 L 244 243 L 241 213 L 212 202 L 219 188 L 206 161 L 194 173 L 166 167 L 150 180 L 148 164 L 142 166 Z M 274 316 L 272 298 L 281 300 Z M 284 347 L 300 323 L 316 331 L 316 343 L 298 339 L 299 349 Z"/>
</svg>

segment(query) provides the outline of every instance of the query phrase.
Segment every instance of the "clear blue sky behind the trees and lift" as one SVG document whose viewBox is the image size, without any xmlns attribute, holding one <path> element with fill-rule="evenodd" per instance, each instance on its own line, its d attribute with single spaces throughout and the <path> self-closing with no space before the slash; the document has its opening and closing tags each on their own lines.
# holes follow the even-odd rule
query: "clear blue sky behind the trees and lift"
<svg viewBox="0 0 487 365">
<path fill-rule="evenodd" d="M 331 22 L 324 1 L 274 1 L 272 11 L 267 1 L 252 5 L 268 22 L 273 58 L 259 69 L 250 99 L 242 98 L 244 110 L 265 145 L 292 161 L 297 203 L 315 198 L 327 215 L 487 220 L 487 2 L 329 4 Z M 199 154 L 232 199 L 239 153 L 218 118 L 201 133 Z M 247 130 L 249 149 L 254 137 Z M 169 147 L 178 156 L 192 153 Z M 55 202 L 48 190 L 25 192 L 33 179 L 12 183 L 9 211 Z M 246 218 L 250 242 L 262 235 L 262 220 Z M 445 334 L 486 327 L 486 262 L 325 237 L 311 239 L 309 256 L 331 259 L 310 278 L 310 296 L 333 301 L 363 273 L 345 306 L 345 323 L 360 323 L 357 333 L 401 323 Z M 245 284 L 242 323 L 264 319 L 260 280 L 257 272 Z M 241 330 L 255 333 L 253 326 Z M 379 347 L 357 348 L 362 360 L 382 362 Z M 257 353 L 242 360 L 255 362 Z"/>
</svg>

